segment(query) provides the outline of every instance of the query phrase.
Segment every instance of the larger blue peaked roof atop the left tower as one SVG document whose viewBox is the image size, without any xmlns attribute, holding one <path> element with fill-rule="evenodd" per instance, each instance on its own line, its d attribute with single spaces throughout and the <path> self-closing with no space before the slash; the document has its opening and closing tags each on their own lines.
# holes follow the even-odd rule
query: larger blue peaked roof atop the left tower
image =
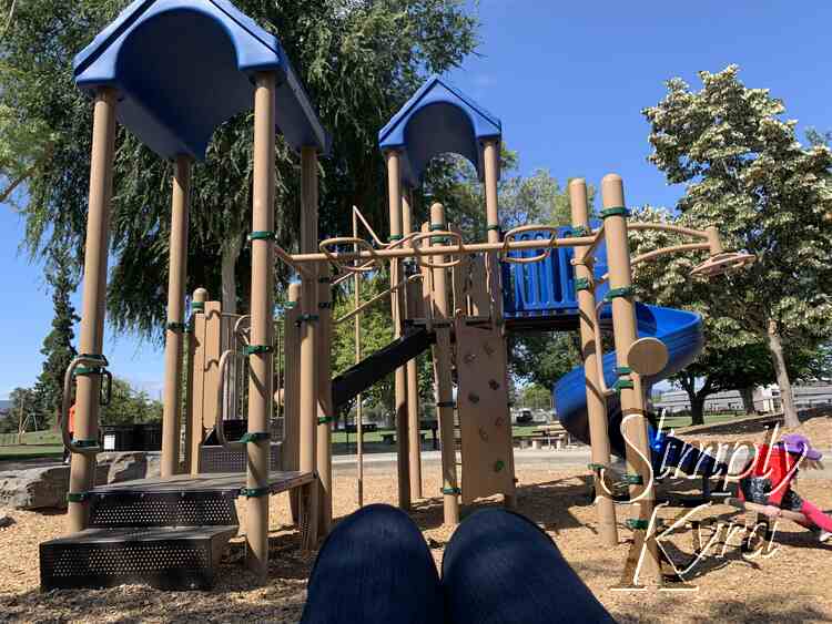
<svg viewBox="0 0 832 624">
<path fill-rule="evenodd" d="M 277 74 L 286 141 L 327 153 L 329 137 L 280 41 L 227 0 L 134 0 L 74 60 L 81 89 L 119 90 L 119 121 L 149 147 L 197 160 L 221 123 L 253 108 L 258 71 Z"/>
</svg>

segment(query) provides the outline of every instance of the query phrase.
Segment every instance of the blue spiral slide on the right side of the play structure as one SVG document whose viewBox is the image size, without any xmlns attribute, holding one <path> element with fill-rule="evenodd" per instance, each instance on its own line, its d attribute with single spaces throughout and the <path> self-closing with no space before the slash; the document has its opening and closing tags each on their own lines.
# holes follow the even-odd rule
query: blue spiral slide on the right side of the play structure
<svg viewBox="0 0 832 624">
<path fill-rule="evenodd" d="M 645 379 L 646 385 L 657 383 L 679 372 L 693 361 L 704 344 L 702 318 L 684 310 L 636 304 L 639 338 L 658 338 L 668 348 L 668 364 L 658 374 Z M 611 325 L 611 308 L 603 306 L 600 314 L 602 327 Z M 616 354 L 603 356 L 603 378 L 607 387 L 616 382 Z M 580 366 L 561 377 L 554 388 L 555 408 L 558 419 L 569 433 L 589 443 L 589 419 L 587 416 L 587 388 L 584 367 Z M 621 434 L 621 407 L 618 399 L 607 399 L 610 446 L 613 453 L 625 456 Z M 689 474 L 716 474 L 723 470 L 712 457 L 701 453 L 678 438 L 666 436 L 650 426 L 650 446 L 653 451 L 653 468 L 680 468 Z"/>
</svg>

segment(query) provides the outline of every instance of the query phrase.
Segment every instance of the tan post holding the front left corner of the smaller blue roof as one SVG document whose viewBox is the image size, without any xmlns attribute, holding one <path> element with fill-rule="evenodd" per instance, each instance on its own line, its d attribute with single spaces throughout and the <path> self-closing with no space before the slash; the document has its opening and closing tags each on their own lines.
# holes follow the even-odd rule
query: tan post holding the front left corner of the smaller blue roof
<svg viewBox="0 0 832 624">
<path fill-rule="evenodd" d="M 402 239 L 402 154 L 389 151 L 387 156 L 387 186 L 389 191 L 390 242 Z M 402 263 L 398 258 L 390 260 L 390 286 L 398 284 Z M 402 337 L 402 289 L 390 294 L 394 338 Z M 398 507 L 410 508 L 410 466 L 407 452 L 407 369 L 399 367 L 395 374 L 396 396 L 396 463 L 398 468 Z"/>
</svg>

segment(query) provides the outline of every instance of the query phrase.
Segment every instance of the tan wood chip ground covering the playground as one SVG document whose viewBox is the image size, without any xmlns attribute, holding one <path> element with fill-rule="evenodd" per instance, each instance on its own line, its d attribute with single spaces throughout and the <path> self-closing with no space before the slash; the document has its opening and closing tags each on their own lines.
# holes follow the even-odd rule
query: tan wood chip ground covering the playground
<svg viewBox="0 0 832 624">
<path fill-rule="evenodd" d="M 587 504 L 586 478 L 578 470 L 518 469 L 520 511 L 555 539 L 567 560 L 590 589 L 621 622 L 704 623 L 710 621 L 832 622 L 832 580 L 829 575 L 832 546 L 818 544 L 800 526 L 783 524 L 777 549 L 768 557 L 744 559 L 729 541 L 723 556 L 722 540 L 694 572 L 697 593 L 619 593 L 611 591 L 621 576 L 629 532 L 621 528 L 621 543 L 598 543 L 593 508 Z M 438 467 L 427 466 L 426 493 L 439 491 Z M 799 490 L 819 505 L 832 508 L 832 482 L 806 481 Z M 355 478 L 336 475 L 335 514 L 356 508 Z M 393 502 L 395 478 L 371 473 L 365 479 L 365 503 Z M 486 502 L 484 504 L 495 504 Z M 241 510 L 244 520 L 244 510 Z M 9 622 L 236 622 L 257 620 L 297 622 L 303 610 L 305 580 L 314 555 L 300 551 L 297 533 L 287 526 L 286 495 L 272 499 L 272 565 L 265 587 L 254 587 L 240 565 L 242 541 L 234 543 L 217 587 L 212 592 L 163 593 L 143 586 L 103 591 L 38 591 L 38 544 L 59 535 L 63 514 L 11 512 L 17 521 L 0 529 L 4 565 L 0 566 L 0 621 Z M 672 516 L 673 513 L 666 512 Z M 731 508 L 711 508 L 701 516 L 742 521 Z M 628 510 L 619 513 L 619 525 Z M 437 563 L 451 531 L 442 525 L 442 500 L 420 501 L 413 513 L 433 546 Z M 691 533 L 671 540 L 668 550 L 682 563 L 691 551 Z M 706 535 L 707 536 L 707 535 Z"/>
</svg>

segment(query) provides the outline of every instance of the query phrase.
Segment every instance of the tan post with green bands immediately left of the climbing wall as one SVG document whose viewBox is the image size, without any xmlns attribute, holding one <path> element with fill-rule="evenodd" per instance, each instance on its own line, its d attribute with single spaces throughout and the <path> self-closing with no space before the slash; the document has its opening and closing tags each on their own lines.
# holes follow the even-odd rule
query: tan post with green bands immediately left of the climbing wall
<svg viewBox="0 0 832 624">
<path fill-rule="evenodd" d="M 430 206 L 432 227 L 444 226 L 445 207 L 442 204 Z M 443 264 L 447 256 L 438 256 L 435 262 Z M 445 524 L 459 523 L 459 482 L 456 474 L 456 436 L 454 433 L 454 391 L 450 375 L 450 315 L 448 313 L 447 269 L 434 268 L 434 310 L 436 328 L 436 347 L 434 367 L 436 370 L 436 412 L 439 418 L 439 438 L 442 440 L 442 491 L 444 501 Z"/>
</svg>

